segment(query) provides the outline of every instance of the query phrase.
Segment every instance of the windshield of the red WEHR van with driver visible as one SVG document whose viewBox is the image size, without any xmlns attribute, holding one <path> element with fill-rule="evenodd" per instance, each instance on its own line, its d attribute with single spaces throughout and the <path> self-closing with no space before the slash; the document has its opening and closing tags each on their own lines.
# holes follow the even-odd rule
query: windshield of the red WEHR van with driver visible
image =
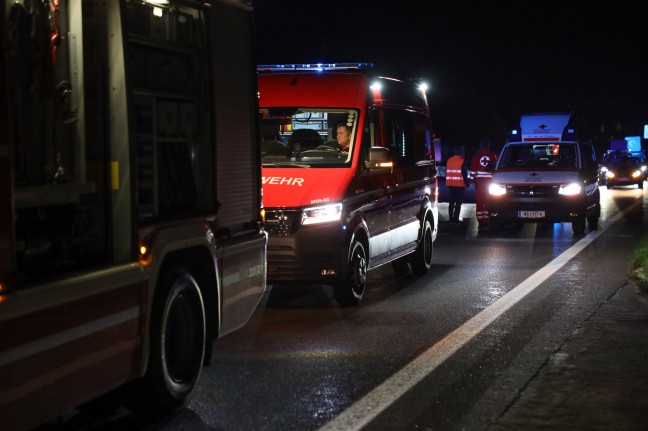
<svg viewBox="0 0 648 431">
<path fill-rule="evenodd" d="M 353 109 L 260 108 L 264 167 L 336 167 L 351 161 L 359 112 Z"/>
</svg>

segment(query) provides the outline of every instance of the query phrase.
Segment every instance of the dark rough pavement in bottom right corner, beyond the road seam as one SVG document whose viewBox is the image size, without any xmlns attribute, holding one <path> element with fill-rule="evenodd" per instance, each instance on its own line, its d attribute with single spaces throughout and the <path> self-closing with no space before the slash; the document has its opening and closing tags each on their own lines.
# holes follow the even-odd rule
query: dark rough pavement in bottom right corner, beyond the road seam
<svg viewBox="0 0 648 431">
<path fill-rule="evenodd" d="M 489 430 L 648 430 L 648 294 L 615 292 Z"/>
</svg>

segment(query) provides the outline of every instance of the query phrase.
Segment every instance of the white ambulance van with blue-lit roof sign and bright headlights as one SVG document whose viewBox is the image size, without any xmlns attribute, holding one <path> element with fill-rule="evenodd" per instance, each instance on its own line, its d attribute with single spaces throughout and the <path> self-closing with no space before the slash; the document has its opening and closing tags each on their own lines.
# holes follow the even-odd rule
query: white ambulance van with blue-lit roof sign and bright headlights
<svg viewBox="0 0 648 431">
<path fill-rule="evenodd" d="M 598 164 L 580 142 L 570 113 L 523 115 L 509 135 L 490 184 L 491 220 L 571 222 L 596 229 L 600 215 Z"/>
</svg>

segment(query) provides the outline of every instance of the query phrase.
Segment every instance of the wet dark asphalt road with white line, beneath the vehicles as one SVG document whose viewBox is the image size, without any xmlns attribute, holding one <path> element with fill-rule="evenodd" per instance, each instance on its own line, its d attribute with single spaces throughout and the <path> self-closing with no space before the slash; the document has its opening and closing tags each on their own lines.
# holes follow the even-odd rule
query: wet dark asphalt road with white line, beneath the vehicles
<svg viewBox="0 0 648 431">
<path fill-rule="evenodd" d="M 451 227 L 441 204 L 428 275 L 397 277 L 382 267 L 350 309 L 326 286 L 273 288 L 248 325 L 215 344 L 178 415 L 142 425 L 112 413 L 84 429 L 497 425 L 548 358 L 627 284 L 648 200 L 638 189 L 601 192 L 599 230 L 585 236 L 569 224 L 480 232 L 471 204 L 462 226 Z"/>
</svg>

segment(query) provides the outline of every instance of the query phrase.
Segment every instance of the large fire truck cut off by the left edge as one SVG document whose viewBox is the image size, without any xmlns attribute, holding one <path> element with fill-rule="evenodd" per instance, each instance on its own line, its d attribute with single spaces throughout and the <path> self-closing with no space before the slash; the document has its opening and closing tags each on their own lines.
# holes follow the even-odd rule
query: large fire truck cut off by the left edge
<svg viewBox="0 0 648 431">
<path fill-rule="evenodd" d="M 190 398 L 265 291 L 247 1 L 0 1 L 0 428 Z M 111 398 L 113 398 L 111 396 Z"/>
</svg>

